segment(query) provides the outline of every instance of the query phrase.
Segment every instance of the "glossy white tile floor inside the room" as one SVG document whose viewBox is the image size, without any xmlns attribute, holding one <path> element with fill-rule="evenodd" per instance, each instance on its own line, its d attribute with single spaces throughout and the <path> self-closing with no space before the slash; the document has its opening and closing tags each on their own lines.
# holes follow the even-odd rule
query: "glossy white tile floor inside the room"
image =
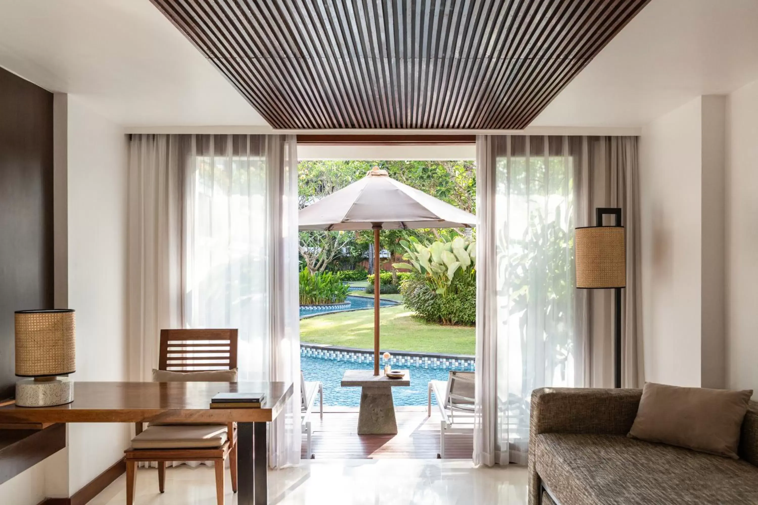
<svg viewBox="0 0 758 505">
<path fill-rule="evenodd" d="M 166 471 L 166 492 L 158 493 L 155 469 L 137 473 L 135 505 L 215 505 L 211 467 Z M 462 460 L 311 460 L 298 468 L 269 473 L 271 505 L 363 503 L 378 505 L 524 505 L 523 466 L 474 469 Z M 124 505 L 124 475 L 89 505 Z M 227 472 L 226 505 L 236 503 Z"/>
</svg>

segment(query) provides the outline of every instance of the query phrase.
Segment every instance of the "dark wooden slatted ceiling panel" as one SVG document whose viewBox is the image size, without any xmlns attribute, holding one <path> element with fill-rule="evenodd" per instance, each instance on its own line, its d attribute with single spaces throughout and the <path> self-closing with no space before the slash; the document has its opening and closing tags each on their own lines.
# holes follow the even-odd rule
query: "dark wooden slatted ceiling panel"
<svg viewBox="0 0 758 505">
<path fill-rule="evenodd" d="M 522 129 L 649 0 L 152 2 L 274 128 Z"/>
</svg>

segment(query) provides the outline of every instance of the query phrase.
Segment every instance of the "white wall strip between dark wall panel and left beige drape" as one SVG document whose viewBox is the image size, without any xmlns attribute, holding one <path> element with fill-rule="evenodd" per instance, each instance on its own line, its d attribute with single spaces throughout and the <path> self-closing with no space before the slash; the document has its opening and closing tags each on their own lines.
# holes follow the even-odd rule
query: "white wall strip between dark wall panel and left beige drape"
<svg viewBox="0 0 758 505">
<path fill-rule="evenodd" d="M 127 379 L 126 138 L 68 96 L 68 303 L 77 310 L 76 381 Z M 124 457 L 129 425 L 68 427 L 69 493 Z"/>
</svg>

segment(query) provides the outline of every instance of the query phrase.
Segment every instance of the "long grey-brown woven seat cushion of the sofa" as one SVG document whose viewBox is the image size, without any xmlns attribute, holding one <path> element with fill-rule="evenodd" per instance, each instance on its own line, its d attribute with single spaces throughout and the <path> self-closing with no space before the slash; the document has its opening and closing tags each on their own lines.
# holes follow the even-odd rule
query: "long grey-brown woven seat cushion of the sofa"
<svg viewBox="0 0 758 505">
<path fill-rule="evenodd" d="M 758 503 L 758 467 L 626 438 L 543 433 L 535 469 L 561 505 Z"/>
</svg>

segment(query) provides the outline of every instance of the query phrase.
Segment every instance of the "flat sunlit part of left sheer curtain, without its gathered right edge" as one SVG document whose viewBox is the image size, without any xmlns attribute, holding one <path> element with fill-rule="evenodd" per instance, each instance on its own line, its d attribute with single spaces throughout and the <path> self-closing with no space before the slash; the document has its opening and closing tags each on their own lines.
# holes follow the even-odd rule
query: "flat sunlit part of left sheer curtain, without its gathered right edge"
<svg viewBox="0 0 758 505">
<path fill-rule="evenodd" d="M 193 136 L 186 176 L 185 323 L 239 329 L 240 381 L 268 379 L 264 139 Z"/>
</svg>

